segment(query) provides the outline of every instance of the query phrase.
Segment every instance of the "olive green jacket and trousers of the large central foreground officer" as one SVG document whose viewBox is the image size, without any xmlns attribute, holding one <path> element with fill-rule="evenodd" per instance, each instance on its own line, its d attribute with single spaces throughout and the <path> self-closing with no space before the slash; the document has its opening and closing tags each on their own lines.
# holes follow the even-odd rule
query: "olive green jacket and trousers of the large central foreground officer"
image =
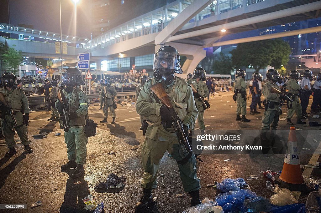
<svg viewBox="0 0 321 213">
<path fill-rule="evenodd" d="M 178 149 L 178 138 L 173 128 L 167 130 L 161 124 L 160 107 L 163 105 L 159 99 L 152 94 L 150 86 L 160 82 L 155 78 L 147 80 L 144 84 L 136 102 L 136 111 L 142 115 L 149 123 L 146 130 L 146 138 L 142 145 L 141 157 L 144 167 L 144 175 L 141 185 L 145 189 L 154 189 L 157 187 L 157 173 L 160 161 L 166 151 L 168 151 L 175 160 L 182 160 Z M 177 112 L 184 125 L 191 130 L 195 125 L 198 111 L 195 106 L 192 88 L 183 78 L 175 77 L 174 81 L 165 89 L 171 105 Z M 186 154 L 187 155 L 187 154 Z M 186 157 L 183 156 L 183 157 Z M 195 155 L 184 165 L 178 164 L 183 188 L 186 192 L 198 190 L 200 180 L 196 176 Z"/>
</svg>

